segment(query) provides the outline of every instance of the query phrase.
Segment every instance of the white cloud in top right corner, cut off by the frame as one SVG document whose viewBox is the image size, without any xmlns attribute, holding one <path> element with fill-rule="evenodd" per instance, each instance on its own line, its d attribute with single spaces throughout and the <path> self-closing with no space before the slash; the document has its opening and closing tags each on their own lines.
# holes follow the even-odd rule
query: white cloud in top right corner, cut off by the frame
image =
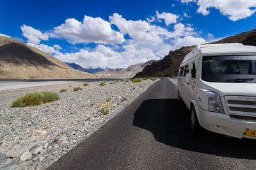
<svg viewBox="0 0 256 170">
<path fill-rule="evenodd" d="M 208 15 L 209 8 L 216 8 L 220 13 L 226 15 L 228 19 L 236 21 L 250 17 L 256 12 L 255 0 L 180 0 L 182 3 L 197 2 L 198 13 Z"/>
</svg>

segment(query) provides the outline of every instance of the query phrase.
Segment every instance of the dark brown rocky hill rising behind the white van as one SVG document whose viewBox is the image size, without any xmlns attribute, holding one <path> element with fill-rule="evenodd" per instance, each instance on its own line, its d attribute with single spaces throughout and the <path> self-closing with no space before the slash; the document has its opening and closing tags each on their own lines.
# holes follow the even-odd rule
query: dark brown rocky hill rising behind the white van
<svg viewBox="0 0 256 170">
<path fill-rule="evenodd" d="M 216 42 L 211 43 L 243 43 L 243 45 L 256 46 L 256 29 L 247 31 L 238 35 L 228 36 Z M 167 56 L 159 61 L 153 62 L 151 65 L 145 66 L 140 73 L 136 73 L 135 77 L 168 77 L 177 75 L 179 66 L 184 56 L 186 56 L 196 46 L 181 47 L 178 50 L 171 50 Z"/>
</svg>

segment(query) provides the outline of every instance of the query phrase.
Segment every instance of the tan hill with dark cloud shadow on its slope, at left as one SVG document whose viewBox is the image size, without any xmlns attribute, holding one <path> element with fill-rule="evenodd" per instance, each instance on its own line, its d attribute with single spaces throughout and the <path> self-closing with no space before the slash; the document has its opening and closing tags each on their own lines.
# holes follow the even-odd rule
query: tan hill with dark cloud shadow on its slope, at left
<svg viewBox="0 0 256 170">
<path fill-rule="evenodd" d="M 13 38 L 0 36 L 0 79 L 90 79 L 59 59 Z"/>
</svg>

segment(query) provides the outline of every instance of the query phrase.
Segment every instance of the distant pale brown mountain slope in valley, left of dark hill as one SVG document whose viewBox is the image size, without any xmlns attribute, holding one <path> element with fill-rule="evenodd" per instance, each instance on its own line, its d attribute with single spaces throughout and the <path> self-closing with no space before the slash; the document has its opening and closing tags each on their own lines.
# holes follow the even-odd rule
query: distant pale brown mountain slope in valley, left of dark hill
<svg viewBox="0 0 256 170">
<path fill-rule="evenodd" d="M 124 68 L 116 68 L 110 71 L 97 72 L 100 78 L 127 78 L 134 77 L 134 75 L 138 72 L 141 72 L 145 66 L 150 65 L 154 60 L 147 61 L 145 63 L 140 63 L 137 65 L 128 66 L 126 69 Z"/>
</svg>

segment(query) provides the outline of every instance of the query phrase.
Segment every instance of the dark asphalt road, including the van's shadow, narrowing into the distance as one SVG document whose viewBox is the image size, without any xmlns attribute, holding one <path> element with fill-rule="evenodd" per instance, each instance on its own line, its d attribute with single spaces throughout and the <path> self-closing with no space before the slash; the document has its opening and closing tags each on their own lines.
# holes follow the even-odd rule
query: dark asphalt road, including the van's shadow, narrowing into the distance
<svg viewBox="0 0 256 170">
<path fill-rule="evenodd" d="M 176 87 L 161 79 L 49 169 L 256 169 L 256 141 L 189 126 Z"/>
</svg>

